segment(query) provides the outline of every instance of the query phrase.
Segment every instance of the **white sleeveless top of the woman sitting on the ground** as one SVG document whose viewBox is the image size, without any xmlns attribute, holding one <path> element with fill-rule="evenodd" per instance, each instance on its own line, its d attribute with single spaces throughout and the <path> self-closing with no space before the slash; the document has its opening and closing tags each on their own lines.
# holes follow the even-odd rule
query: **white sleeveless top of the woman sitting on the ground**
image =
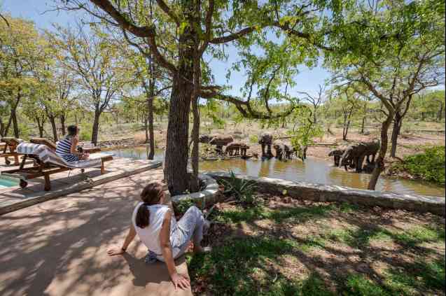
<svg viewBox="0 0 446 296">
<path fill-rule="evenodd" d="M 147 246 L 147 248 L 156 253 L 159 256 L 162 256 L 161 251 L 161 244 L 160 244 L 160 231 L 162 228 L 162 221 L 165 218 L 165 215 L 167 211 L 170 210 L 169 206 L 165 206 L 163 204 L 154 204 L 153 206 L 147 206 L 148 211 L 150 213 L 149 223 L 148 226 L 145 228 L 139 228 L 136 224 L 136 218 L 137 218 L 137 212 L 139 209 L 139 206 L 141 204 L 144 204 L 143 202 L 139 202 L 137 206 L 134 208 L 133 215 L 132 215 L 132 223 L 134 226 L 134 229 L 136 230 L 139 239 Z M 172 230 L 174 229 L 174 226 L 176 225 L 176 220 L 174 215 L 172 215 L 172 220 L 170 221 L 170 233 L 172 234 Z M 178 253 L 179 250 L 172 250 L 172 255 L 175 256 Z"/>
</svg>

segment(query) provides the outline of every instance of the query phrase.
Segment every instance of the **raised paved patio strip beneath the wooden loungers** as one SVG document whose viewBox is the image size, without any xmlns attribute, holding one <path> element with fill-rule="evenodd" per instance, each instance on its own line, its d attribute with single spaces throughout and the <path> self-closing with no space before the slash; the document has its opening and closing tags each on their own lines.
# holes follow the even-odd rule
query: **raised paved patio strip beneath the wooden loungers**
<svg viewBox="0 0 446 296">
<path fill-rule="evenodd" d="M 115 157 L 111 162 L 106 162 L 104 175 L 101 175 L 100 169 L 86 169 L 85 174 L 76 169 L 51 175 L 51 190 L 48 192 L 43 189 L 43 177 L 30 180 L 25 189 L 18 186 L 0 188 L 0 215 L 160 166 L 161 162 Z M 4 159 L 0 160 L 0 171 L 13 168 L 6 166 Z"/>
</svg>

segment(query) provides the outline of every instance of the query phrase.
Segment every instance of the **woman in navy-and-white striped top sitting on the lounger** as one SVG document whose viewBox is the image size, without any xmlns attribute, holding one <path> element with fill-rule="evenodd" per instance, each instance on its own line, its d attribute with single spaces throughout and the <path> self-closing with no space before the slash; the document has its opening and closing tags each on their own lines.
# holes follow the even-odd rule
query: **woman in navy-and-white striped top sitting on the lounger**
<svg viewBox="0 0 446 296">
<path fill-rule="evenodd" d="M 77 162 L 88 159 L 88 153 L 78 152 L 79 129 L 76 125 L 70 125 L 67 129 L 68 135 L 57 143 L 56 154 L 66 162 Z"/>
</svg>

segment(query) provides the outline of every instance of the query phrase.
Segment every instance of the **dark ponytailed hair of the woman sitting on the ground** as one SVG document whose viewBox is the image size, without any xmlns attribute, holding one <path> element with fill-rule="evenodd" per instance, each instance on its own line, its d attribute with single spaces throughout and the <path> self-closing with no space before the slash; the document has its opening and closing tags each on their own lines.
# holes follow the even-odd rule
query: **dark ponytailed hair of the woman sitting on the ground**
<svg viewBox="0 0 446 296">
<path fill-rule="evenodd" d="M 158 204 L 163 195 L 162 185 L 157 182 L 149 183 L 141 192 L 141 199 L 144 204 L 139 206 L 135 223 L 139 228 L 148 227 L 150 221 L 150 211 L 148 206 Z"/>
</svg>

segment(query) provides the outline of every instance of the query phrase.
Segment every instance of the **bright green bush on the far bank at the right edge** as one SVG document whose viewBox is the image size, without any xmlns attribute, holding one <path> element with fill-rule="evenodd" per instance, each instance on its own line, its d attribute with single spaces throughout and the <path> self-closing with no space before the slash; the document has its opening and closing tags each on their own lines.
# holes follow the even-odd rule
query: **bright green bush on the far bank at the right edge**
<svg viewBox="0 0 446 296">
<path fill-rule="evenodd" d="M 403 167 L 414 176 L 445 185 L 445 146 L 433 146 L 424 153 L 405 157 Z"/>
</svg>

